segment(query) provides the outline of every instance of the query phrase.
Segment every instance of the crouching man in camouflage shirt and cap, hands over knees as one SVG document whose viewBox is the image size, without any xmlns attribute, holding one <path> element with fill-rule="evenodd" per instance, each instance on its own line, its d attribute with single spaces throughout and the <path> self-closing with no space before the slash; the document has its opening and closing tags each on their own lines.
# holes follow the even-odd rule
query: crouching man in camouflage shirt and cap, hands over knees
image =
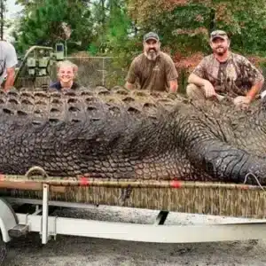
<svg viewBox="0 0 266 266">
<path fill-rule="evenodd" d="M 262 74 L 248 59 L 229 50 L 223 30 L 211 33 L 210 46 L 213 54 L 202 59 L 188 78 L 188 98 L 220 101 L 228 95 L 236 106 L 249 106 L 262 89 Z"/>
</svg>

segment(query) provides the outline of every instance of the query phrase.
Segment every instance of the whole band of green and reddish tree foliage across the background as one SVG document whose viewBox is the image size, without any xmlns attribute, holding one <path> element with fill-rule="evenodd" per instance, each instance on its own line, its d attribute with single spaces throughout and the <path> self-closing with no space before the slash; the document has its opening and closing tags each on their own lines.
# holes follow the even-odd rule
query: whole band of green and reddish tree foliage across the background
<svg viewBox="0 0 266 266">
<path fill-rule="evenodd" d="M 266 50 L 264 0 L 252 4 L 249 0 L 17 1 L 25 7 L 17 36 L 23 47 L 64 40 L 65 22 L 73 30 L 71 38 L 82 40 L 81 49 L 89 47 L 92 54 L 124 54 L 149 30 L 159 33 L 172 54 L 207 53 L 209 33 L 216 28 L 229 32 L 236 51 L 263 54 Z"/>
</svg>

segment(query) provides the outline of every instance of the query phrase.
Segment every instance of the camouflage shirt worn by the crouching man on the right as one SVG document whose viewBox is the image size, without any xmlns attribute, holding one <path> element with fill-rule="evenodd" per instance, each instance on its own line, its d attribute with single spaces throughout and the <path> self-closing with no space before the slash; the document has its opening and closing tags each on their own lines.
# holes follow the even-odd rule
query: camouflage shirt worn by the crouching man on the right
<svg viewBox="0 0 266 266">
<path fill-rule="evenodd" d="M 217 93 L 231 97 L 246 96 L 246 92 L 263 78 L 248 59 L 232 52 L 223 63 L 215 59 L 214 54 L 205 57 L 192 73 L 211 82 Z"/>
</svg>

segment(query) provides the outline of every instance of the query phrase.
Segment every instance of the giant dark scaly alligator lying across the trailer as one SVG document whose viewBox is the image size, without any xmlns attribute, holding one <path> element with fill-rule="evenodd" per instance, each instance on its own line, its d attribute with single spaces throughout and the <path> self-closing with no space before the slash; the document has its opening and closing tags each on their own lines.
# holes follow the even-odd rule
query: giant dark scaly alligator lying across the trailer
<svg viewBox="0 0 266 266">
<path fill-rule="evenodd" d="M 266 184 L 265 113 L 121 87 L 1 91 L 0 170 Z"/>
</svg>

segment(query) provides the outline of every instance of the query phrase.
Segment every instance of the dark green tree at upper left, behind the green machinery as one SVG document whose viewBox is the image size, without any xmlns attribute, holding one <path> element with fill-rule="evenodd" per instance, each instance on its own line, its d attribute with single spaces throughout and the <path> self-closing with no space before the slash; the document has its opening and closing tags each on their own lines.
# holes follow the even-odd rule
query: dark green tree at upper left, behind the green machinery
<svg viewBox="0 0 266 266">
<path fill-rule="evenodd" d="M 25 16 L 20 21 L 20 34 L 16 35 L 19 50 L 65 41 L 64 24 L 71 28 L 71 40 L 82 41 L 82 49 L 87 48 L 92 37 L 92 21 L 86 1 L 36 0 L 30 4 L 20 1 L 20 4 L 25 7 Z"/>
</svg>

